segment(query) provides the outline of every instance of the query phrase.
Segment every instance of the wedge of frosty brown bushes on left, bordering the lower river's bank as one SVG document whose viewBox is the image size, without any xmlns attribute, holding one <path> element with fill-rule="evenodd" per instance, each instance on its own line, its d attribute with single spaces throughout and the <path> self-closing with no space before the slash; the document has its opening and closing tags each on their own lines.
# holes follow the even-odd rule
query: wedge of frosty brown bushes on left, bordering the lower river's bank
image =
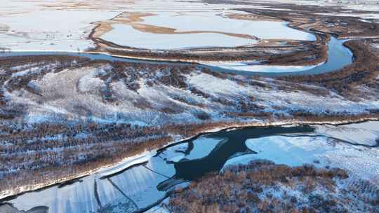
<svg viewBox="0 0 379 213">
<path fill-rule="evenodd" d="M 233 123 L 138 126 L 128 123 L 0 125 L 0 191 L 76 177 L 128 156 Z"/>
</svg>

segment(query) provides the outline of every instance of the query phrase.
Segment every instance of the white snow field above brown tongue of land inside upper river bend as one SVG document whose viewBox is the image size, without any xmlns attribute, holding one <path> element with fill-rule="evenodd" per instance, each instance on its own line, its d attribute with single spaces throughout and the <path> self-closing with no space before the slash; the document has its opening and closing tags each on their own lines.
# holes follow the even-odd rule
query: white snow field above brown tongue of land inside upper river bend
<svg viewBox="0 0 379 213">
<path fill-rule="evenodd" d="M 286 22 L 251 21 L 227 18 L 226 15 L 242 13 L 240 11 L 213 12 L 213 13 L 160 13 L 148 16 L 142 22 L 147 25 L 156 25 L 185 31 L 216 31 L 235 34 L 248 34 L 260 39 L 293 39 L 314 41 L 313 34 L 287 27 Z M 244 13 L 243 13 L 244 14 Z M 248 14 L 248 13 L 246 13 Z"/>
</svg>

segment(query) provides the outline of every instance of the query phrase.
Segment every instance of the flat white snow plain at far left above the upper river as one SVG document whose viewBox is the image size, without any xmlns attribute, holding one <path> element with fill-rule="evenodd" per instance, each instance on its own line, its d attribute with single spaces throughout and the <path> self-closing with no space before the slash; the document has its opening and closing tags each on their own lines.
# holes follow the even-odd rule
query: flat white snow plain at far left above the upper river
<svg viewBox="0 0 379 213">
<path fill-rule="evenodd" d="M 90 23 L 114 15 L 117 13 L 41 10 L 0 15 L 1 25 L 7 27 L 0 34 L 0 48 L 74 51 L 92 48 L 93 42 L 86 39 L 95 27 Z"/>
</svg>

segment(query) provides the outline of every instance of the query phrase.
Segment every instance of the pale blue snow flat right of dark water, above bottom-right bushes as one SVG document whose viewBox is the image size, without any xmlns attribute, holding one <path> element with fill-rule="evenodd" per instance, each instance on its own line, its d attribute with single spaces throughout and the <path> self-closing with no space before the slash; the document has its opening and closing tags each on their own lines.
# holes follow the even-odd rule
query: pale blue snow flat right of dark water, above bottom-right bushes
<svg viewBox="0 0 379 213">
<path fill-rule="evenodd" d="M 249 149 L 258 152 L 253 159 L 272 160 L 291 166 L 311 163 L 316 166 L 339 167 L 357 177 L 379 180 L 378 149 L 362 148 L 328 137 L 272 136 L 246 141 Z M 314 163 L 317 162 L 320 163 Z"/>
</svg>

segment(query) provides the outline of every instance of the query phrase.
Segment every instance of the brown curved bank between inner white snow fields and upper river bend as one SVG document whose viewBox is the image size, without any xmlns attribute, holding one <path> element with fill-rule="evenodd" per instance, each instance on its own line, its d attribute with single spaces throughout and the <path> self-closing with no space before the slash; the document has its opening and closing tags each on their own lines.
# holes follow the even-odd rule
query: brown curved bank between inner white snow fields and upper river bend
<svg viewBox="0 0 379 213">
<path fill-rule="evenodd" d="M 138 13 L 138 15 L 140 14 Z M 154 15 L 149 14 L 149 16 Z M 125 21 L 123 19 L 119 20 L 119 16 L 120 15 L 117 15 L 114 18 L 114 20 L 111 19 L 105 22 L 96 23 L 97 26 L 92 30 L 91 34 L 88 36 L 88 38 L 93 40 L 97 46 L 93 49 L 94 52 L 106 52 L 114 55 L 123 55 L 126 57 L 140 58 L 143 60 L 164 60 L 197 63 L 259 61 L 265 64 L 287 64 L 286 61 L 283 60 L 285 58 L 286 60 L 291 60 L 292 64 L 289 62 L 288 64 L 294 65 L 293 62 L 295 62 L 295 65 L 298 66 L 310 66 L 314 64 L 320 64 L 321 62 L 325 62 L 327 57 L 325 47 L 326 42 L 324 41 L 323 36 L 317 34 L 314 35 L 315 37 L 317 37 L 315 41 L 296 41 L 293 39 L 260 39 L 259 46 L 246 45 L 236 47 L 199 47 L 183 48 L 177 50 L 155 50 L 121 46 L 119 44 L 113 43 L 112 41 L 106 41 L 105 39 L 102 39 L 100 37 L 102 33 L 100 33 L 100 35 L 98 33 L 98 31 L 103 32 L 102 28 L 106 28 L 107 30 L 112 29 L 112 27 L 108 26 L 109 23 L 112 22 L 126 22 L 126 24 L 124 23 L 125 25 L 131 24 L 130 21 Z M 121 16 L 123 15 L 121 14 Z M 133 14 L 131 14 L 131 16 L 133 16 Z M 216 17 L 217 16 L 218 15 L 216 15 Z M 126 15 L 126 17 L 128 17 L 128 15 Z M 234 20 L 234 18 L 228 15 L 227 17 L 228 18 L 226 18 L 225 20 Z M 251 22 L 251 24 L 254 23 L 254 21 Z M 267 22 L 267 24 L 270 24 L 270 22 Z M 289 29 L 291 28 L 288 28 L 288 30 Z M 145 32 L 145 28 L 143 28 L 142 31 Z M 308 34 L 312 34 L 311 32 L 307 32 L 305 30 L 303 31 Z M 273 43 L 277 43 L 277 45 L 273 45 Z M 305 52 L 307 53 L 305 54 Z M 284 57 L 284 55 L 286 57 Z M 274 62 L 275 60 L 276 62 Z"/>
</svg>

